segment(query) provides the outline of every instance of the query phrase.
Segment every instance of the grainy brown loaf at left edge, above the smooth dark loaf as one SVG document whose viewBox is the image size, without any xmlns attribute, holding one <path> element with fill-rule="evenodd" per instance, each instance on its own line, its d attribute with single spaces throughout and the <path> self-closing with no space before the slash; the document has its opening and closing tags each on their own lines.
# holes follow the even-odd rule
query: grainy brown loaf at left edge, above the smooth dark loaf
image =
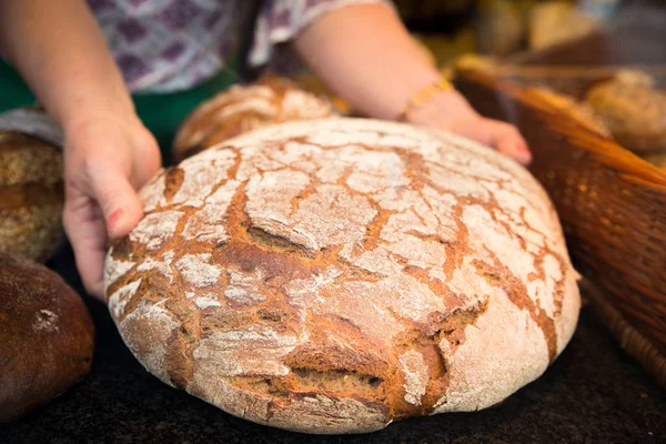
<svg viewBox="0 0 666 444">
<path fill-rule="evenodd" d="M 0 133 L 0 253 L 48 260 L 62 240 L 62 152 Z"/>
</svg>

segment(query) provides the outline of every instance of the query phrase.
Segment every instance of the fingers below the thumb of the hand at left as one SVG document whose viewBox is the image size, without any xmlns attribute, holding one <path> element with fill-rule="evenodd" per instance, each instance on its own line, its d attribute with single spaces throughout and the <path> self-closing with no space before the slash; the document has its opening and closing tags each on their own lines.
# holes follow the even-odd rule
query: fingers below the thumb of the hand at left
<svg viewBox="0 0 666 444">
<path fill-rule="evenodd" d="M 69 188 L 69 186 L 68 186 Z M 77 269 L 85 291 L 103 301 L 103 264 L 107 236 L 102 211 L 94 202 L 69 188 L 62 222 L 74 250 Z"/>
</svg>

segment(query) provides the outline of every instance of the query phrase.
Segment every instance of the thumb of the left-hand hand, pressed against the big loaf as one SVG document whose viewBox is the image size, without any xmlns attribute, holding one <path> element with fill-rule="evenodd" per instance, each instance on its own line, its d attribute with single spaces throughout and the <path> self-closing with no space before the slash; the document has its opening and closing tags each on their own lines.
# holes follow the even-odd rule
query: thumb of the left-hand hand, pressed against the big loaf
<svg viewBox="0 0 666 444">
<path fill-rule="evenodd" d="M 121 171 L 109 168 L 91 174 L 92 198 L 104 214 L 110 239 L 127 235 L 143 216 L 143 206 L 129 179 Z"/>
</svg>

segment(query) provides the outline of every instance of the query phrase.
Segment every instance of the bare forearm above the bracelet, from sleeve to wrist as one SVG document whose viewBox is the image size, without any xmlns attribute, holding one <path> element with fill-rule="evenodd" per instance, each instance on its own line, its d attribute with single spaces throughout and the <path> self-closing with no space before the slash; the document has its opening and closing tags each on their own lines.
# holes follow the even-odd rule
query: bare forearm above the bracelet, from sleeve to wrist
<svg viewBox="0 0 666 444">
<path fill-rule="evenodd" d="M 336 94 L 374 118 L 396 118 L 416 91 L 440 79 L 400 19 L 382 4 L 332 11 L 306 28 L 295 47 Z"/>
</svg>

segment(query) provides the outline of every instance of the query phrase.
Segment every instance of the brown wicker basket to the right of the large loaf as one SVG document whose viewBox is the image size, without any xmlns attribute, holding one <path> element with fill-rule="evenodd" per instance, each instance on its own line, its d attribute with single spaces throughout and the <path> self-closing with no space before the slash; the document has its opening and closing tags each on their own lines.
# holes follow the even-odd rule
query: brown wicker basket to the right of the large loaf
<svg viewBox="0 0 666 444">
<path fill-rule="evenodd" d="M 593 306 L 666 387 L 666 171 L 495 73 L 458 70 L 455 82 L 484 115 L 519 128 L 576 265 L 602 289 L 587 293 Z"/>
</svg>

